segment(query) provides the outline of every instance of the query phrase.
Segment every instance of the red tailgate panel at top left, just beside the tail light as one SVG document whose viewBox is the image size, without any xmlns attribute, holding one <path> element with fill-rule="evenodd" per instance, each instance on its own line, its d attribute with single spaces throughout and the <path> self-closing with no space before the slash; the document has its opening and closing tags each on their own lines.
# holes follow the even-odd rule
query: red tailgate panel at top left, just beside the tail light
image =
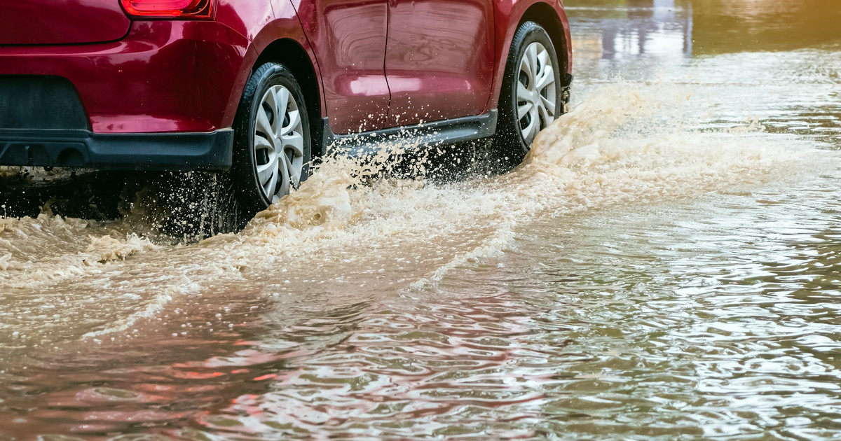
<svg viewBox="0 0 841 441">
<path fill-rule="evenodd" d="M 119 0 L 0 0 L 0 45 L 77 45 L 121 39 Z"/>
</svg>

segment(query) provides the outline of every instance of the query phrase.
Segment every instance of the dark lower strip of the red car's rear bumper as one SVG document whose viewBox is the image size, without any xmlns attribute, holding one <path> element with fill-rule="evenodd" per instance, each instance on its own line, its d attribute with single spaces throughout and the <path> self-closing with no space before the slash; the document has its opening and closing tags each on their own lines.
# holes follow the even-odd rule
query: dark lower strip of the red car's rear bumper
<svg viewBox="0 0 841 441">
<path fill-rule="evenodd" d="M 233 129 L 170 134 L 0 129 L 0 165 L 98 170 L 227 170 L 233 140 Z"/>
</svg>

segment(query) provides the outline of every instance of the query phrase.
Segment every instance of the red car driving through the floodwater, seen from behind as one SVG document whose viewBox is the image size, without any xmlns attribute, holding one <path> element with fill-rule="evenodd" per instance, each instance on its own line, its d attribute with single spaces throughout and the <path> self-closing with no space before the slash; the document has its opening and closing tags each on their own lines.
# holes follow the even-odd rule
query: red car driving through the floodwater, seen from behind
<svg viewBox="0 0 841 441">
<path fill-rule="evenodd" d="M 521 157 L 571 55 L 560 0 L 0 0 L 0 165 L 225 171 L 256 211 L 357 139 Z"/>
</svg>

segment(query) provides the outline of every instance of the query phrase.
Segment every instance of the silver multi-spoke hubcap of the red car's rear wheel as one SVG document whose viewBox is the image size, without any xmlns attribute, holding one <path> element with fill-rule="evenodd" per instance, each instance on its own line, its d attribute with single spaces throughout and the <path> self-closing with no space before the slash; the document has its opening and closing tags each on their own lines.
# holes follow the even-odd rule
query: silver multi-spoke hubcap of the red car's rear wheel
<svg viewBox="0 0 841 441">
<path fill-rule="evenodd" d="M 298 102 L 286 87 L 272 86 L 263 95 L 253 145 L 262 194 L 278 202 L 299 185 L 304 171 L 304 124 Z"/>
</svg>

